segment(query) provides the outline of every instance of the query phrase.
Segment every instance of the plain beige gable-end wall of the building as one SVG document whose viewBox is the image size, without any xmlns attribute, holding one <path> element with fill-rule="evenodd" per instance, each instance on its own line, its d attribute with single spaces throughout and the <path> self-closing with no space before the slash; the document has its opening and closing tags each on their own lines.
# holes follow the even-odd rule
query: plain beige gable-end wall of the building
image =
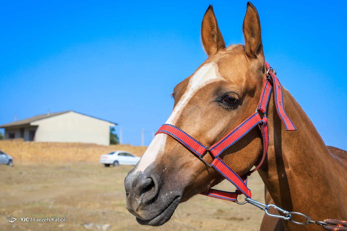
<svg viewBox="0 0 347 231">
<path fill-rule="evenodd" d="M 72 142 L 110 144 L 110 126 L 114 123 L 70 111 L 30 123 L 39 126 L 36 142 Z"/>
</svg>

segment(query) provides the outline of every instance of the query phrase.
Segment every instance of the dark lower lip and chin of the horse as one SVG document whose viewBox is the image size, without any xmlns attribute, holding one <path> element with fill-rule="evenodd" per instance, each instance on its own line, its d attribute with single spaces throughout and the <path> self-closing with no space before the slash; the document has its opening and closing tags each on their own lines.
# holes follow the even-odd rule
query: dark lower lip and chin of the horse
<svg viewBox="0 0 347 231">
<path fill-rule="evenodd" d="M 151 226 L 161 226 L 171 219 L 172 214 L 174 214 L 175 209 L 181 201 L 181 197 L 177 196 L 171 200 L 168 205 L 162 206 L 162 211 L 149 220 L 141 220 L 136 217 L 136 221 L 141 225 L 151 225 Z M 158 208 L 159 210 L 159 208 Z"/>
</svg>

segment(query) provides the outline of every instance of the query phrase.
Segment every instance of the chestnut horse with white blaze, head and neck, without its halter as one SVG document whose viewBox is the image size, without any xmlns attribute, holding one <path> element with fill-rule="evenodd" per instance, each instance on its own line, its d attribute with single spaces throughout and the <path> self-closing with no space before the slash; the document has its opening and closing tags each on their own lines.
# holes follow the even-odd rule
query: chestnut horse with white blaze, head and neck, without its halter
<svg viewBox="0 0 347 231">
<path fill-rule="evenodd" d="M 249 2 L 243 33 L 245 45 L 226 47 L 210 6 L 201 25 L 201 40 L 209 57 L 174 88 L 174 109 L 166 123 L 203 145 L 216 143 L 257 108 L 266 69 L 259 15 Z M 258 170 L 269 195 L 277 206 L 312 220 L 346 219 L 347 166 L 329 152 L 300 105 L 282 89 L 286 113 L 298 129 L 286 131 L 271 93 L 268 155 Z M 245 175 L 261 161 L 261 137 L 260 129 L 250 130 L 221 159 L 239 176 Z M 206 154 L 204 160 L 211 163 L 213 158 Z M 126 207 L 138 223 L 159 226 L 170 220 L 179 203 L 223 179 L 174 138 L 158 134 L 125 178 Z M 283 225 L 286 230 L 321 229 L 289 221 Z"/>
</svg>

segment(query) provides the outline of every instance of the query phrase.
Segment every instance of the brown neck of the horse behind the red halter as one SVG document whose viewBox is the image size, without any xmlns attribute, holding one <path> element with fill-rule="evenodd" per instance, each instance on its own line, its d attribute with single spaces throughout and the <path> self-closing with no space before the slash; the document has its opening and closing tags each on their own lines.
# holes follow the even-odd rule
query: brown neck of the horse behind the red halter
<svg viewBox="0 0 347 231">
<path fill-rule="evenodd" d="M 330 154 L 301 106 L 283 90 L 287 115 L 297 130 L 285 130 L 272 94 L 268 156 L 259 174 L 274 203 L 283 209 L 307 213 L 313 220 L 346 219 L 347 210 L 341 206 L 347 203 L 346 165 Z"/>
</svg>

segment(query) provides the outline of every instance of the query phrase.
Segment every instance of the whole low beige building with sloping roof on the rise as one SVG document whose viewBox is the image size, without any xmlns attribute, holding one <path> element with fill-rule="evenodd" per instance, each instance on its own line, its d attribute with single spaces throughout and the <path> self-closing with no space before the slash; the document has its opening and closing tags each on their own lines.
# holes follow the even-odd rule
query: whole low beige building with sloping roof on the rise
<svg viewBox="0 0 347 231">
<path fill-rule="evenodd" d="M 115 125 L 90 115 L 64 111 L 36 115 L 0 125 L 0 128 L 5 128 L 5 139 L 110 145 L 110 127 Z"/>
</svg>

